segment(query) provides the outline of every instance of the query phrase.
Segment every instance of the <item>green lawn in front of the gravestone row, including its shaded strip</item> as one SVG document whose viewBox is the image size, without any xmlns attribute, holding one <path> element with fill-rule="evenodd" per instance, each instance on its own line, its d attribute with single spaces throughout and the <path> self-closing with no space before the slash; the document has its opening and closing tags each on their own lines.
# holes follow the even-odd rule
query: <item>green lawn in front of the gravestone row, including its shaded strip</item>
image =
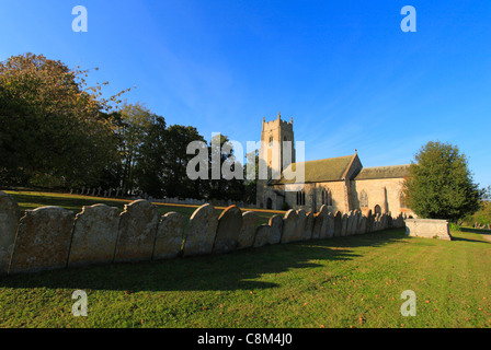
<svg viewBox="0 0 491 350">
<path fill-rule="evenodd" d="M 491 327 L 490 243 L 402 230 L 0 278 L 0 327 Z M 88 294 L 73 317 L 71 294 Z M 416 316 L 400 313 L 402 291 Z"/>
</svg>

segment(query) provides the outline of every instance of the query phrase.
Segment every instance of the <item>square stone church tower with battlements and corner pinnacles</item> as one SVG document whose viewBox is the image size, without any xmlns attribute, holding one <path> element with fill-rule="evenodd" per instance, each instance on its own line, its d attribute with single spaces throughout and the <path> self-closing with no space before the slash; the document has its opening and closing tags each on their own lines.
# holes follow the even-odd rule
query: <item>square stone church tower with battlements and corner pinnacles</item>
<svg viewBox="0 0 491 350">
<path fill-rule="evenodd" d="M 286 148 L 290 148 L 290 156 L 286 152 Z M 284 163 L 285 162 L 285 163 Z M 265 121 L 263 118 L 261 131 L 261 149 L 259 150 L 259 166 L 267 167 L 267 179 L 260 178 L 258 180 L 256 205 L 260 208 L 267 208 L 269 198 L 266 198 L 267 183 L 275 176 L 274 179 L 279 178 L 282 171 L 290 163 L 295 163 L 295 139 L 294 139 L 294 120 L 282 120 L 278 117 L 271 121 Z M 260 171 L 261 175 L 261 171 Z M 270 198 L 272 200 L 272 198 Z"/>
</svg>

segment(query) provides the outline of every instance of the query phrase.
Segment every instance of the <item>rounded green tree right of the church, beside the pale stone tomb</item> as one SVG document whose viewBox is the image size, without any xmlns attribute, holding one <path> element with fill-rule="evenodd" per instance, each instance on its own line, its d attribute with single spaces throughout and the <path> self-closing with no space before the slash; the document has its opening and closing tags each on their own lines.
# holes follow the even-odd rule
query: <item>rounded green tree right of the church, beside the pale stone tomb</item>
<svg viewBox="0 0 491 350">
<path fill-rule="evenodd" d="M 414 160 L 403 191 L 415 214 L 456 222 L 479 209 L 481 191 L 456 145 L 430 141 Z"/>
</svg>

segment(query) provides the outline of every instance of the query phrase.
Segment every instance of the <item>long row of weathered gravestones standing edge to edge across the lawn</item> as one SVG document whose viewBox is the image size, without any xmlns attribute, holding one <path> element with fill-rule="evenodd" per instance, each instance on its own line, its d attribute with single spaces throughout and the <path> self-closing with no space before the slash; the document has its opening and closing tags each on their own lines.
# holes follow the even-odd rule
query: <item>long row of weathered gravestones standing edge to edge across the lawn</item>
<svg viewBox="0 0 491 350">
<path fill-rule="evenodd" d="M 289 210 L 258 226 L 258 214 L 231 206 L 218 215 L 213 205 L 197 208 L 189 220 L 176 212 L 159 218 L 157 207 L 139 199 L 117 208 L 83 207 L 76 217 L 59 207 L 26 210 L 0 191 L 0 275 L 35 272 L 89 264 L 167 259 L 228 253 L 315 238 L 329 238 L 403 226 L 403 218 L 364 217 L 359 211 L 330 214 Z"/>
</svg>

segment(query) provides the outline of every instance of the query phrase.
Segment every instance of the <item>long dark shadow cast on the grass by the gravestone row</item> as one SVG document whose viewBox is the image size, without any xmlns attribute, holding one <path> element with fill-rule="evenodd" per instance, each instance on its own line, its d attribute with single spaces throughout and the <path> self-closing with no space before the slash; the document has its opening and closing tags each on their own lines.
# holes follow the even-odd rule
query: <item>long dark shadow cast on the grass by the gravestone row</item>
<svg viewBox="0 0 491 350">
<path fill-rule="evenodd" d="M 271 289 L 276 282 L 258 281 L 265 273 L 311 269 L 323 262 L 351 260 L 356 247 L 377 247 L 403 240 L 403 230 L 331 240 L 316 240 L 206 255 L 134 264 L 109 264 L 12 275 L 0 288 L 47 288 L 114 291 L 227 291 Z"/>
</svg>

